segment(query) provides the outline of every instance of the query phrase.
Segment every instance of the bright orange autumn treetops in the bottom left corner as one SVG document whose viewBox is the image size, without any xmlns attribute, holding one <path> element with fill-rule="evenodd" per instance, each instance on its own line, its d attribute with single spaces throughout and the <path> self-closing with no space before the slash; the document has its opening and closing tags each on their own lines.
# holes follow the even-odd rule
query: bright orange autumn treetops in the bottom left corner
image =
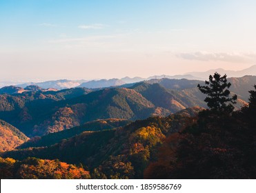
<svg viewBox="0 0 256 193">
<path fill-rule="evenodd" d="M 59 160 L 28 158 L 23 161 L 0 157 L 1 179 L 90 179 L 82 167 Z"/>
</svg>

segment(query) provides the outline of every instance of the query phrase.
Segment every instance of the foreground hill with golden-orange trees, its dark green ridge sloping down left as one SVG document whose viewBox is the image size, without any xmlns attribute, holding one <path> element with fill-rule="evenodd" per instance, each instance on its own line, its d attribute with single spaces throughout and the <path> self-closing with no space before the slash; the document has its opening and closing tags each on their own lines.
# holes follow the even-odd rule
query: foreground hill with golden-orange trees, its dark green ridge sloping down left
<svg viewBox="0 0 256 193">
<path fill-rule="evenodd" d="M 193 123 L 188 120 L 201 110 L 190 108 L 164 118 L 150 117 L 112 130 L 82 132 L 48 147 L 14 150 L 1 156 L 18 160 L 35 156 L 82 163 L 89 167 L 94 178 L 95 172 L 103 173 L 109 179 L 142 178 L 143 171 L 157 157 L 157 148 L 166 136 Z"/>
</svg>

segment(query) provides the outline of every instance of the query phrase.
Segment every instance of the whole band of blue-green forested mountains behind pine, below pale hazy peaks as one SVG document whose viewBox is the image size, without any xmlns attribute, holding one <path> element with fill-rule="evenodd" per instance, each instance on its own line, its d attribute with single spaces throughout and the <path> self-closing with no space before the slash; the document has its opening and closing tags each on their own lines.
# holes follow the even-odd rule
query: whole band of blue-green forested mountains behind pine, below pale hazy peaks
<svg viewBox="0 0 256 193">
<path fill-rule="evenodd" d="M 239 96 L 235 105 L 239 109 L 246 105 L 248 90 L 253 89 L 256 77 L 228 81 L 232 83 L 231 92 Z M 128 88 L 121 85 L 101 90 L 70 88 L 59 91 L 33 85 L 27 87 L 29 92 L 0 94 L 0 119 L 31 137 L 68 130 L 97 119 L 134 121 L 148 116 L 167 116 L 193 106 L 206 108 L 205 95 L 199 92 L 198 83 L 204 84 L 204 81 L 151 79 L 130 83 Z M 19 88 L 12 87 L 12 90 Z"/>
</svg>

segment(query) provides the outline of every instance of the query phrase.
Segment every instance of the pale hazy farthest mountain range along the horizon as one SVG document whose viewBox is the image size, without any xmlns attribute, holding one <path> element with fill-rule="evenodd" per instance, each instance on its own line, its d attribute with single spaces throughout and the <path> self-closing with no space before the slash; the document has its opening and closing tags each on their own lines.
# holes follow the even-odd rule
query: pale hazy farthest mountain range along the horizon
<svg viewBox="0 0 256 193">
<path fill-rule="evenodd" d="M 169 75 L 155 75 L 148 78 L 141 77 L 124 77 L 122 79 L 100 79 L 100 80 L 57 80 L 57 81 L 45 81 L 45 82 L 28 82 L 28 83 L 17 83 L 17 82 L 8 82 L 3 81 L 0 82 L 0 87 L 8 86 L 8 85 L 17 85 L 17 87 L 26 88 L 28 85 L 38 85 L 43 89 L 54 88 L 57 90 L 66 89 L 66 88 L 75 88 L 75 87 L 85 87 L 85 88 L 108 88 L 111 86 L 124 85 L 129 83 L 137 83 L 140 81 L 147 81 L 150 79 L 188 79 L 188 80 L 200 80 L 204 81 L 208 79 L 209 74 L 214 74 L 215 72 L 219 72 L 220 74 L 227 74 L 228 77 L 244 77 L 246 75 L 256 75 L 256 65 L 251 66 L 250 68 L 246 68 L 244 70 L 224 70 L 222 68 L 208 70 L 206 72 L 188 72 L 186 74 L 179 74 L 174 76 Z"/>
</svg>

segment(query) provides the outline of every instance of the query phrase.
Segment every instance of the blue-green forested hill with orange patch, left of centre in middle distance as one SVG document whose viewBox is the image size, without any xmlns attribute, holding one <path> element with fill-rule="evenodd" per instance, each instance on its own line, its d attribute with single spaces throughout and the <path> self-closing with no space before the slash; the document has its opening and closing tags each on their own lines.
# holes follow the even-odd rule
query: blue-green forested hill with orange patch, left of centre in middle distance
<svg viewBox="0 0 256 193">
<path fill-rule="evenodd" d="M 84 90 L 72 90 L 78 89 Z M 152 114 L 170 114 L 170 111 L 155 107 L 144 96 L 131 89 L 112 88 L 89 94 L 79 92 L 81 96 L 65 99 L 69 96 L 66 95 L 68 91 L 60 91 L 64 97 L 60 97 L 62 100 L 57 97 L 58 93 L 49 96 L 39 92 L 34 95 L 0 95 L 6 104 L 3 108 L 0 107 L 0 117 L 28 136 L 35 136 L 67 130 L 97 119 L 135 120 L 145 119 Z M 37 99 L 35 95 L 38 95 Z M 14 103 L 15 100 L 17 103 Z"/>
</svg>

